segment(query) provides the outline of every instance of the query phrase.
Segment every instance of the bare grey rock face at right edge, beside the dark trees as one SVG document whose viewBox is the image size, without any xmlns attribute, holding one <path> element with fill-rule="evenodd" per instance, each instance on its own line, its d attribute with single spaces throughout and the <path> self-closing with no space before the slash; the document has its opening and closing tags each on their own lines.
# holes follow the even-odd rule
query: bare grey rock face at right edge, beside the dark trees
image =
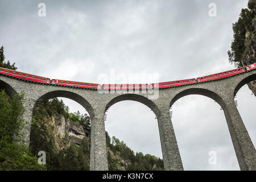
<svg viewBox="0 0 256 182">
<path fill-rule="evenodd" d="M 256 31 L 256 18 L 253 20 L 253 26 Z M 256 33 L 254 32 L 246 32 L 246 38 L 245 38 L 245 53 L 242 60 L 243 65 L 249 65 L 256 62 Z M 254 96 L 256 97 L 256 80 L 249 82 L 248 84 L 249 89 L 254 93 Z"/>
</svg>

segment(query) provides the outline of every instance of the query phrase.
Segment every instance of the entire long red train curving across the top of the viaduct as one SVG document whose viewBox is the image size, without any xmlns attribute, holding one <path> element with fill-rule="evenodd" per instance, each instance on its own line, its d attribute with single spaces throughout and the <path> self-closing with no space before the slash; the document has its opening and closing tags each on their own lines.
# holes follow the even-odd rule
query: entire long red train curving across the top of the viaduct
<svg viewBox="0 0 256 182">
<path fill-rule="evenodd" d="M 212 81 L 218 80 L 225 77 L 230 77 L 233 75 L 237 75 L 243 72 L 251 71 L 256 69 L 256 63 L 247 65 L 246 67 L 232 69 L 230 71 L 225 71 L 221 73 L 216 73 L 213 75 L 207 75 L 199 78 L 191 78 L 187 80 L 176 80 L 176 81 L 167 81 L 167 82 L 159 82 L 154 84 L 92 84 L 88 82 L 78 82 L 78 81 L 67 81 L 67 80 L 58 80 L 58 79 L 50 79 L 42 76 L 31 75 L 28 73 L 13 71 L 7 68 L 0 68 L 0 74 L 11 76 L 14 78 L 19 78 L 22 80 L 28 80 L 32 82 L 39 82 L 42 84 L 51 84 L 51 85 L 63 85 L 63 86 L 72 86 L 77 88 L 87 88 L 87 89 L 106 89 L 106 90 L 119 90 L 119 89 L 163 89 L 163 88 L 170 88 L 172 86 L 183 86 L 188 84 L 195 84 L 197 82 L 204 82 L 204 81 Z"/>
</svg>

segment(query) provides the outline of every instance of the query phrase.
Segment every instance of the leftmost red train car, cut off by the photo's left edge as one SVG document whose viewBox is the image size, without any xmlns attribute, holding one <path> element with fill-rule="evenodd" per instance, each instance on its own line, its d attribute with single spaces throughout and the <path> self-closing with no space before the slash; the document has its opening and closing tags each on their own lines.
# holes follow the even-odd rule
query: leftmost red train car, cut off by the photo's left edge
<svg viewBox="0 0 256 182">
<path fill-rule="evenodd" d="M 30 80 L 30 81 L 42 82 L 42 83 L 50 82 L 50 78 L 37 76 L 37 75 L 31 75 L 31 74 L 23 73 L 23 72 L 18 72 L 18 71 L 14 71 L 12 69 L 7 69 L 7 68 L 0 68 L 0 73 L 9 75 L 9 76 L 13 76 L 16 78 L 21 78 L 23 80 Z"/>
</svg>

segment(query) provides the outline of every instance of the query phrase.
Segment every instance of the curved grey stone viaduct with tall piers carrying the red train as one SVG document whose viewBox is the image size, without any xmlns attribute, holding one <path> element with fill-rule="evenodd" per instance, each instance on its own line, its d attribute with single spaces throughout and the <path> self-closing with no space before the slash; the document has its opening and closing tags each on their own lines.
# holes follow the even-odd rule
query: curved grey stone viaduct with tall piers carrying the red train
<svg viewBox="0 0 256 182">
<path fill-rule="evenodd" d="M 256 170 L 256 151 L 234 103 L 234 96 L 238 90 L 253 80 L 256 80 L 256 70 L 212 82 L 159 89 L 158 97 L 154 100 L 150 99 L 150 93 L 144 93 L 143 90 L 137 90 L 138 92 L 130 90 L 128 93 L 100 93 L 97 90 L 36 84 L 3 75 L 0 75 L 0 88 L 5 88 L 10 96 L 20 92 L 25 94 L 23 104 L 26 111 L 23 117 L 28 123 L 23 130 L 26 131 L 24 141 L 27 143 L 30 141 L 32 112 L 40 101 L 53 97 L 66 97 L 81 104 L 92 119 L 90 170 L 108 170 L 104 114 L 110 106 L 124 100 L 141 102 L 154 111 L 158 120 L 164 169 L 183 170 L 170 118 L 170 107 L 179 98 L 189 94 L 210 97 L 224 111 L 240 169 Z"/>
</svg>

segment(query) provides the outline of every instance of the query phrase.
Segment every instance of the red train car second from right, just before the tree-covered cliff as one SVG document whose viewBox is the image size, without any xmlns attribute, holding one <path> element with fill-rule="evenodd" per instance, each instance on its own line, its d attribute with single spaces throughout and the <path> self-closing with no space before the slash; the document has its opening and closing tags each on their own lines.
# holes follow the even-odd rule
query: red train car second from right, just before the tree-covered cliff
<svg viewBox="0 0 256 182">
<path fill-rule="evenodd" d="M 207 75 L 207 76 L 199 77 L 199 78 L 196 78 L 196 81 L 197 82 L 203 82 L 203 81 L 217 80 L 217 79 L 220 79 L 220 78 L 225 78 L 225 77 L 237 75 L 237 74 L 240 74 L 242 72 L 245 72 L 245 68 L 237 68 L 237 69 L 232 69 L 230 71 L 225 71 L 225 72 L 216 73 L 216 74 L 213 74 L 213 75 Z"/>
</svg>

